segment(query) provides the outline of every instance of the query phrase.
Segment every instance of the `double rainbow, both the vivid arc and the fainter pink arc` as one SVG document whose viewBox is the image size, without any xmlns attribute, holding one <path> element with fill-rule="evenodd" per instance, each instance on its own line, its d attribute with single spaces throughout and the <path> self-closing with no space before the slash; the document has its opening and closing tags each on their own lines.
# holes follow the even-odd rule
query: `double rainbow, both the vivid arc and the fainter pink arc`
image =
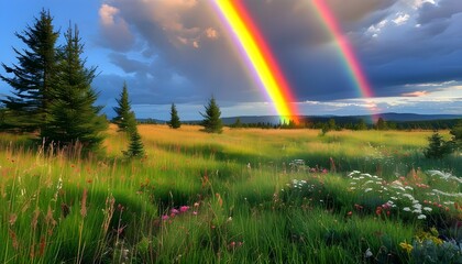
<svg viewBox="0 0 462 264">
<path fill-rule="evenodd" d="M 241 0 L 215 0 L 213 1 L 222 20 L 234 33 L 239 46 L 246 55 L 250 67 L 256 75 L 261 87 L 266 91 L 273 101 L 275 109 L 280 118 L 293 119 L 296 122 L 299 111 L 292 89 L 285 79 L 283 72 L 278 67 L 273 53 L 262 37 L 258 29 L 253 23 Z M 316 11 L 326 24 L 328 31 L 339 47 L 339 53 L 343 58 L 350 76 L 355 82 L 362 97 L 372 97 L 372 89 L 361 64 L 355 57 L 353 50 L 343 35 L 341 28 L 334 15 L 326 4 L 324 0 L 312 0 Z"/>
</svg>

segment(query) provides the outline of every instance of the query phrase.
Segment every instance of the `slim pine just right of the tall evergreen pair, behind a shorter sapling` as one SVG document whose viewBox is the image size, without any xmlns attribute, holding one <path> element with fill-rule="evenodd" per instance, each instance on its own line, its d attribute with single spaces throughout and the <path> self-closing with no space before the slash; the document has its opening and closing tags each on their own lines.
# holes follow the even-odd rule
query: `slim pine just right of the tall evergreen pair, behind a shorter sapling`
<svg viewBox="0 0 462 264">
<path fill-rule="evenodd" d="M 116 99 L 118 102 L 118 107 L 114 107 L 113 110 L 116 111 L 117 116 L 112 119 L 119 127 L 119 131 L 129 132 L 129 128 L 133 128 L 130 125 L 131 122 L 135 122 L 134 114 L 131 109 L 131 102 L 129 100 L 129 91 L 127 88 L 127 82 L 123 82 L 122 92 L 120 94 L 120 99 Z"/>
</svg>

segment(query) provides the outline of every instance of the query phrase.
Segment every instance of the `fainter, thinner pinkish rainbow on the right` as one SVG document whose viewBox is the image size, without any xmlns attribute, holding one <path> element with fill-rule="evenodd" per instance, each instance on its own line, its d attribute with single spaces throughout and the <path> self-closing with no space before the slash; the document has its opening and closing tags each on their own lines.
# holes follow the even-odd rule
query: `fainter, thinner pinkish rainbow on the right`
<svg viewBox="0 0 462 264">
<path fill-rule="evenodd" d="M 345 63 L 345 67 L 349 70 L 350 76 L 353 78 L 353 81 L 359 89 L 360 96 L 363 98 L 373 97 L 371 85 L 361 68 L 361 64 L 358 61 L 350 42 L 342 33 L 336 16 L 327 6 L 326 0 L 312 0 L 311 2 L 339 47 L 339 53 Z"/>
</svg>

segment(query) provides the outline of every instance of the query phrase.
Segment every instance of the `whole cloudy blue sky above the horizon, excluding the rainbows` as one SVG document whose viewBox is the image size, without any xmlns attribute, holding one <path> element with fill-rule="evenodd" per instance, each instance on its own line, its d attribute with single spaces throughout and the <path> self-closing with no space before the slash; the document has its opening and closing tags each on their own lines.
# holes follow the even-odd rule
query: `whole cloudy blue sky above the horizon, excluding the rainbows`
<svg viewBox="0 0 462 264">
<path fill-rule="evenodd" d="M 244 1 L 301 114 L 462 113 L 461 0 L 324 0 L 369 98 L 311 1 Z M 212 96 L 222 117 L 277 113 L 212 0 L 0 1 L 1 63 L 18 63 L 14 33 L 42 9 L 62 33 L 78 25 L 109 117 L 124 81 L 138 118 L 168 120 L 175 103 L 182 120 L 198 120 Z M 10 91 L 0 81 L 0 97 Z"/>
</svg>

